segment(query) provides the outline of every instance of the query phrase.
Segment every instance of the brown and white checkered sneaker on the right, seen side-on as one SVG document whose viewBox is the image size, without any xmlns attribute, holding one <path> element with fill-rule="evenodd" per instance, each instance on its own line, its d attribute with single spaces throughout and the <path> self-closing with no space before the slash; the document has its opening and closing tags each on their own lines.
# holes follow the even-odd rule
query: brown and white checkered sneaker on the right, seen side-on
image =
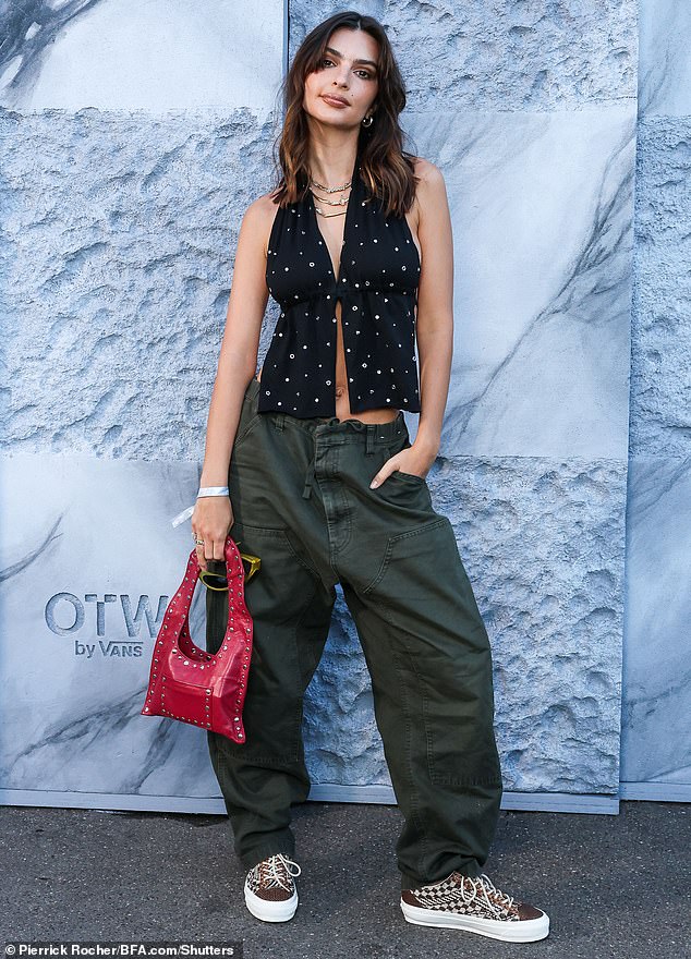
<svg viewBox="0 0 691 959">
<path fill-rule="evenodd" d="M 533 943 L 549 934 L 549 916 L 526 902 L 516 902 L 489 876 L 452 872 L 446 879 L 403 889 L 401 909 L 417 925 L 462 928 L 507 943 Z"/>
</svg>

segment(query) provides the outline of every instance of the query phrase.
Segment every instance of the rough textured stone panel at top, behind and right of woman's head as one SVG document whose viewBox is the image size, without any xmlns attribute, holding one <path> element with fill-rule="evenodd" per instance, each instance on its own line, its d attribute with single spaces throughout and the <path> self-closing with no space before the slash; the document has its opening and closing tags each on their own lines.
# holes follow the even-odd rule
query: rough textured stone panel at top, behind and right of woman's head
<svg viewBox="0 0 691 959">
<path fill-rule="evenodd" d="M 290 57 L 317 23 L 349 9 L 290 0 Z M 364 0 L 355 9 L 386 26 L 413 110 L 580 110 L 635 97 L 634 2 Z"/>
</svg>

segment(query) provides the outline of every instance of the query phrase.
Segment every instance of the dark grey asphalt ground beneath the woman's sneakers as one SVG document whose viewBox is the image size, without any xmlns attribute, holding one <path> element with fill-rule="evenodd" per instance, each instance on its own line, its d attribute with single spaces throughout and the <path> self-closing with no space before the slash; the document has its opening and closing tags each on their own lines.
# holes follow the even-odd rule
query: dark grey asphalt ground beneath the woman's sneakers
<svg viewBox="0 0 691 959">
<path fill-rule="evenodd" d="M 241 942 L 244 959 L 687 959 L 690 808 L 502 811 L 484 871 L 550 918 L 546 939 L 513 945 L 405 922 L 396 806 L 294 808 L 302 875 L 287 923 L 246 910 L 226 816 L 2 806 L 0 942 Z"/>
</svg>

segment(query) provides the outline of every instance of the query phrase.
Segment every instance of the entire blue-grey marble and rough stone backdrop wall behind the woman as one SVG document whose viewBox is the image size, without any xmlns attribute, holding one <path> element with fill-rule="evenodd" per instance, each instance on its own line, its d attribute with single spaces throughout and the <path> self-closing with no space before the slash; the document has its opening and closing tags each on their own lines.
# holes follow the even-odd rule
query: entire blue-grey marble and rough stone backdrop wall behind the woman
<svg viewBox="0 0 691 959">
<path fill-rule="evenodd" d="M 222 811 L 203 733 L 140 708 L 278 85 L 340 9 L 3 14 L 4 802 Z M 429 484 L 493 643 L 505 808 L 688 798 L 691 14 L 356 9 L 389 32 L 407 145 L 451 205 L 454 360 Z M 342 596 L 304 731 L 313 798 L 393 801 Z"/>
</svg>

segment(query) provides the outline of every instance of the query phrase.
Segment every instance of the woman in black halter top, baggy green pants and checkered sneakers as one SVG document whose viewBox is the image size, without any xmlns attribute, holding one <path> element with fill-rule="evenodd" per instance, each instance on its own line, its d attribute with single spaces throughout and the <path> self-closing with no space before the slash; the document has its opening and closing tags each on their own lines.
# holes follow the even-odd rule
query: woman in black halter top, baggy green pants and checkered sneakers
<svg viewBox="0 0 691 959">
<path fill-rule="evenodd" d="M 373 17 L 342 13 L 312 31 L 284 97 L 282 179 L 242 221 L 192 515 L 203 568 L 223 571 L 231 530 L 262 559 L 245 593 L 246 742 L 208 732 L 245 903 L 269 922 L 298 906 L 290 812 L 311 785 L 303 695 L 340 581 L 404 816 L 405 919 L 543 938 L 546 914 L 481 873 L 501 798 L 492 655 L 425 481 L 452 351 L 444 179 L 401 149 L 403 84 Z M 269 292 L 281 313 L 255 374 Z M 412 445 L 404 410 L 420 413 Z M 227 594 L 207 593 L 210 652 L 227 610 Z"/>
</svg>

